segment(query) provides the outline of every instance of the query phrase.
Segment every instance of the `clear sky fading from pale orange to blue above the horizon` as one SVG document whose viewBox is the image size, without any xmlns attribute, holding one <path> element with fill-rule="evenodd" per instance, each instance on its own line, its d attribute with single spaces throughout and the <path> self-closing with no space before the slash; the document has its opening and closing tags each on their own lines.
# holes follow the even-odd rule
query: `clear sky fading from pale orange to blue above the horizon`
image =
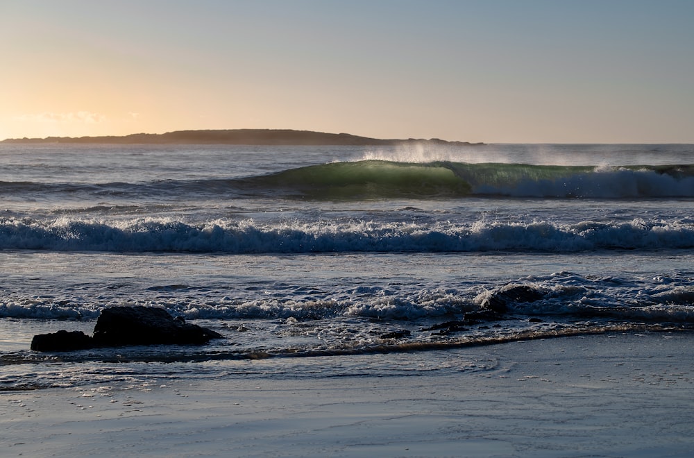
<svg viewBox="0 0 694 458">
<path fill-rule="evenodd" d="M 0 139 L 694 143 L 693 0 L 0 0 Z"/>
</svg>

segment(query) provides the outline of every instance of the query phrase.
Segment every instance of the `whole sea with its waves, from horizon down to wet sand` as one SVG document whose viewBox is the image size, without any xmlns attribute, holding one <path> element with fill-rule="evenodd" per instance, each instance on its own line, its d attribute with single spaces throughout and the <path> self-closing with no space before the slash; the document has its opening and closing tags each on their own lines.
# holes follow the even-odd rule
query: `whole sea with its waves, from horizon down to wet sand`
<svg viewBox="0 0 694 458">
<path fill-rule="evenodd" d="M 688 332 L 693 158 L 672 144 L 0 144 L 0 390 L 225 377 L 255 359 L 268 377 L 389 375 L 446 370 L 450 348 Z M 531 298 L 469 319 L 521 286 Z M 225 338 L 29 350 L 117 305 Z M 401 356 L 372 364 L 383 353 Z"/>
</svg>

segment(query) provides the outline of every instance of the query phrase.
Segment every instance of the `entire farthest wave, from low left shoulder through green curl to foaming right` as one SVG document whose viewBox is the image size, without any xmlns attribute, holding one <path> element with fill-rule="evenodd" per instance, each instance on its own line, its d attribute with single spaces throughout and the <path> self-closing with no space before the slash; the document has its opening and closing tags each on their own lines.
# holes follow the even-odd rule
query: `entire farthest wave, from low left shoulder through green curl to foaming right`
<svg viewBox="0 0 694 458">
<path fill-rule="evenodd" d="M 0 182 L 0 194 L 74 196 L 266 196 L 314 200 L 381 198 L 690 198 L 694 164 L 621 167 L 530 164 L 334 162 L 269 175 L 151 183 Z"/>
</svg>

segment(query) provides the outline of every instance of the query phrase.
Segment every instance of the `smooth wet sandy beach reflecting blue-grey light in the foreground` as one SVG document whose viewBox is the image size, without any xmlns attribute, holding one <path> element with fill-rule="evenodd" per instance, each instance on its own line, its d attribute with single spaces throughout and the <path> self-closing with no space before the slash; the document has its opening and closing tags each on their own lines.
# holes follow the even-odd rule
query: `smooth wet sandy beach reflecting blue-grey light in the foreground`
<svg viewBox="0 0 694 458">
<path fill-rule="evenodd" d="M 31 457 L 688 457 L 693 342 L 608 334 L 450 350 L 439 371 L 407 370 L 411 354 L 371 355 L 403 362 L 385 377 L 264 378 L 276 362 L 262 360 L 207 363 L 257 371 L 196 383 L 9 391 L 0 443 Z"/>
</svg>

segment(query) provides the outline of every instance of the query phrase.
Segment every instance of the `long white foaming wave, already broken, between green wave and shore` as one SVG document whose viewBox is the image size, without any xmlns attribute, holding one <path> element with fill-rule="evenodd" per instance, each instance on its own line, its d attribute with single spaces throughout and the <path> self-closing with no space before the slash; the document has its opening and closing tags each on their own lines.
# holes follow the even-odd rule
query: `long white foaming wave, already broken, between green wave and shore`
<svg viewBox="0 0 694 458">
<path fill-rule="evenodd" d="M 442 253 L 657 250 L 694 247 L 694 220 L 409 223 L 175 219 L 0 219 L 0 249 L 112 253 Z"/>
</svg>

